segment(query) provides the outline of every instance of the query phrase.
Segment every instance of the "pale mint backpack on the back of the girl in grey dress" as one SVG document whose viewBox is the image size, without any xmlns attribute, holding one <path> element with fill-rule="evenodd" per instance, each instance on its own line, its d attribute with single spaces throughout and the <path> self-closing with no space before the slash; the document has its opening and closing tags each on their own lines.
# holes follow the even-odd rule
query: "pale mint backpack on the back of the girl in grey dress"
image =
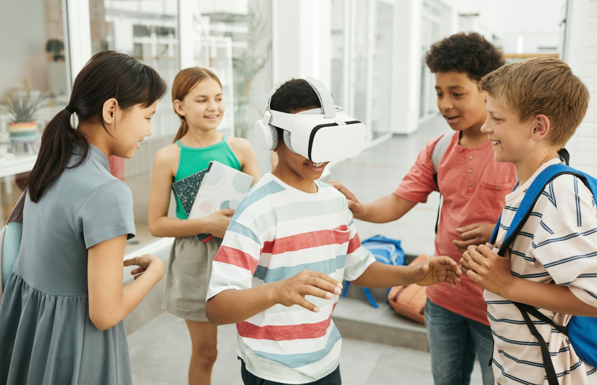
<svg viewBox="0 0 597 385">
<path fill-rule="evenodd" d="M 16 262 L 19 250 L 21 249 L 25 195 L 26 192 L 21 194 L 21 197 L 17 200 L 17 204 L 13 207 L 13 211 L 8 216 L 6 226 L 0 229 L 0 275 L 2 275 L 0 301 L 2 300 L 2 291 L 4 291 L 8 277 L 13 272 L 14 262 Z"/>
</svg>

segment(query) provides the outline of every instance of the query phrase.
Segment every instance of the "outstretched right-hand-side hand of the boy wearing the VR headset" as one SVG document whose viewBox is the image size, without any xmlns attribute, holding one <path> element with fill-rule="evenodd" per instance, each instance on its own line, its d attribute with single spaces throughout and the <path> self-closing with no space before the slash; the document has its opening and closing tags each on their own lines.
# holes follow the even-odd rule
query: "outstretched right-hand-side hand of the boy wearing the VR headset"
<svg viewBox="0 0 597 385">
<path fill-rule="evenodd" d="M 456 287 L 456 282 L 461 282 L 462 271 L 455 260 L 442 256 L 410 266 L 410 275 L 414 283 L 419 286 L 448 282 L 451 287 Z"/>
</svg>

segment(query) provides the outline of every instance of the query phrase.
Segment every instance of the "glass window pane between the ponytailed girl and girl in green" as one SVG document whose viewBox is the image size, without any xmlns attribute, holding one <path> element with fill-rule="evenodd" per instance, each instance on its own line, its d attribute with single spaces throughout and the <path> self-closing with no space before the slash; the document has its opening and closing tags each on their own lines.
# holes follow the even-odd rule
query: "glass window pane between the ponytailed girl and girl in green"
<svg viewBox="0 0 597 385">
<path fill-rule="evenodd" d="M 155 68 L 172 86 L 180 70 L 177 0 L 90 0 L 90 18 L 92 54 L 113 49 L 132 55 Z M 152 135 L 134 158 L 110 159 L 112 173 L 133 192 L 137 237 L 129 241 L 127 252 L 154 239 L 147 225 L 153 159 L 160 148 L 172 143 L 179 127 L 167 92 L 152 117 Z"/>
</svg>

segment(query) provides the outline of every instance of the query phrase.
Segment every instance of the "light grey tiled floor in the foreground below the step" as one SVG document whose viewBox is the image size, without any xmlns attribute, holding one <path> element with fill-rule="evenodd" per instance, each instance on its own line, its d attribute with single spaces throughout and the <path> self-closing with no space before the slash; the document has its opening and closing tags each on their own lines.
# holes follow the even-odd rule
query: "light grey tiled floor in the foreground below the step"
<svg viewBox="0 0 597 385">
<path fill-rule="evenodd" d="M 235 325 L 218 328 L 218 359 L 214 365 L 213 385 L 242 385 L 235 338 Z M 183 319 L 162 313 L 131 334 L 128 346 L 133 384 L 187 383 L 190 340 Z M 352 339 L 342 340 L 340 370 L 344 385 L 433 384 L 429 353 Z M 472 384 L 481 384 L 478 363 Z"/>
</svg>

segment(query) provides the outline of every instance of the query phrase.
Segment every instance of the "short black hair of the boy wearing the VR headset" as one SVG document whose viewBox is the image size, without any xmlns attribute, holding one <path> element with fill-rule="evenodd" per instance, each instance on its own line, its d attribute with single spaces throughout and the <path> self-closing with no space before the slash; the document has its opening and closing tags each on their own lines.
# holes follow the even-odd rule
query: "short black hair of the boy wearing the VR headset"
<svg viewBox="0 0 597 385">
<path fill-rule="evenodd" d="M 274 92 L 269 108 L 290 114 L 305 108 L 321 108 L 321 102 L 307 80 L 290 79 Z"/>
</svg>

